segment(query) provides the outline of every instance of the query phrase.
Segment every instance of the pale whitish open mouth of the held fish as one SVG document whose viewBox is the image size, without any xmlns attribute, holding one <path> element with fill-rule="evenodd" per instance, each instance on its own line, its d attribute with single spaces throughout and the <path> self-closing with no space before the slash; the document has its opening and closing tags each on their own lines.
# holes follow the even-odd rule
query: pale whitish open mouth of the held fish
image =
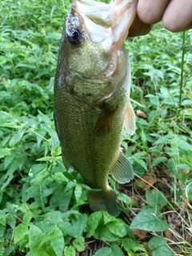
<svg viewBox="0 0 192 256">
<path fill-rule="evenodd" d="M 74 0 L 74 10 L 82 16 L 86 33 L 94 44 L 111 40 L 121 48 L 132 24 L 138 0 L 114 0 L 109 4 L 92 0 Z"/>
</svg>

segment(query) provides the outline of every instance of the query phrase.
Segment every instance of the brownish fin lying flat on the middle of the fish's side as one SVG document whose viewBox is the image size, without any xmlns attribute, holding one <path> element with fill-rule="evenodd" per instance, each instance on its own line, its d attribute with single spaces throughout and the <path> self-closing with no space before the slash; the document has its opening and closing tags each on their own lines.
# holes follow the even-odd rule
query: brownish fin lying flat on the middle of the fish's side
<svg viewBox="0 0 192 256">
<path fill-rule="evenodd" d="M 115 112 L 116 110 L 111 111 L 107 108 L 102 110 L 94 129 L 95 134 L 99 136 L 108 134 L 110 132 L 113 126 Z"/>
</svg>

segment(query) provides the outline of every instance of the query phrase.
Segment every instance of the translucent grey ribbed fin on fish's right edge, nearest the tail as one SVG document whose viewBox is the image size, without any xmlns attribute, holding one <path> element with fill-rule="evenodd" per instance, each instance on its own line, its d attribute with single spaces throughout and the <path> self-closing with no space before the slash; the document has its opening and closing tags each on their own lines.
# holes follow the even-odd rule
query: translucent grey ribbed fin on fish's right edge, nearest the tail
<svg viewBox="0 0 192 256">
<path fill-rule="evenodd" d="M 112 170 L 110 170 L 113 178 L 121 184 L 130 182 L 134 178 L 134 170 L 126 155 L 120 152 L 117 162 L 115 162 Z"/>
</svg>

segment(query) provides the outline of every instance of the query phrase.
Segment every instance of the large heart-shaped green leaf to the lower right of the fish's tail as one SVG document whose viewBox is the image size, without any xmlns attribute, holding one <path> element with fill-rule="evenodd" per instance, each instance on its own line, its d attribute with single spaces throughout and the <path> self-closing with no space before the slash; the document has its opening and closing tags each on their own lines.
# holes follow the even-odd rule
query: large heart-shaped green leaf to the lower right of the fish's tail
<svg viewBox="0 0 192 256">
<path fill-rule="evenodd" d="M 169 225 L 162 220 L 158 210 L 153 208 L 141 210 L 130 224 L 130 229 L 161 232 L 169 229 Z"/>
</svg>

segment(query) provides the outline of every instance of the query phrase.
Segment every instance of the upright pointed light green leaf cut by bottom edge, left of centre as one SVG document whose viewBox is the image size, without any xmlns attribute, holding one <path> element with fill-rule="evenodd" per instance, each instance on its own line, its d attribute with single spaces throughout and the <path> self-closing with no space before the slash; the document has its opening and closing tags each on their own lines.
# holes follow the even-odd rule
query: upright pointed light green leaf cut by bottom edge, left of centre
<svg viewBox="0 0 192 256">
<path fill-rule="evenodd" d="M 58 228 L 58 226 L 54 228 L 54 231 L 51 234 L 50 244 L 53 247 L 55 254 L 57 256 L 62 256 L 62 251 L 65 244 L 62 231 Z"/>
</svg>

